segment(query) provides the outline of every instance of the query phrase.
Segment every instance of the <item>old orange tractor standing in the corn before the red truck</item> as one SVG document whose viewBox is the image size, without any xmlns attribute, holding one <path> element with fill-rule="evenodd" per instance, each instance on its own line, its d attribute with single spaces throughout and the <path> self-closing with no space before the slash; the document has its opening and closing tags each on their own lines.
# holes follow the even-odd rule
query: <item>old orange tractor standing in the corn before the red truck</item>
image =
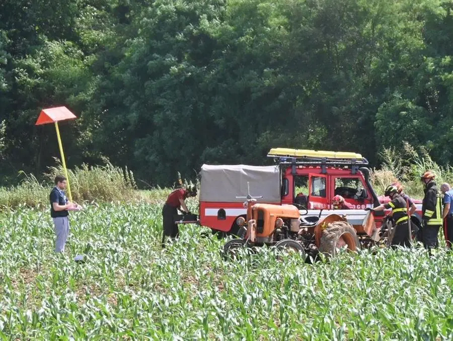
<svg viewBox="0 0 453 341">
<path fill-rule="evenodd" d="M 238 197 L 241 198 L 241 197 Z M 244 198 L 244 197 L 242 197 Z M 380 239 L 373 215 L 366 214 L 362 224 L 351 225 L 345 215 L 329 214 L 321 218 L 301 214 L 294 205 L 273 205 L 256 203 L 256 198 L 249 194 L 244 206 L 247 218 L 238 217 L 236 224 L 243 228 L 243 238 L 231 239 L 223 246 L 225 258 L 235 254 L 242 247 L 274 246 L 277 249 L 289 249 L 316 259 L 322 252 L 333 256 L 338 249 L 346 247 L 350 251 L 360 249 L 369 240 Z M 300 207 L 299 207 L 300 208 Z M 365 240 L 362 238 L 362 240 Z M 310 261 L 310 257 L 307 258 Z"/>
</svg>

